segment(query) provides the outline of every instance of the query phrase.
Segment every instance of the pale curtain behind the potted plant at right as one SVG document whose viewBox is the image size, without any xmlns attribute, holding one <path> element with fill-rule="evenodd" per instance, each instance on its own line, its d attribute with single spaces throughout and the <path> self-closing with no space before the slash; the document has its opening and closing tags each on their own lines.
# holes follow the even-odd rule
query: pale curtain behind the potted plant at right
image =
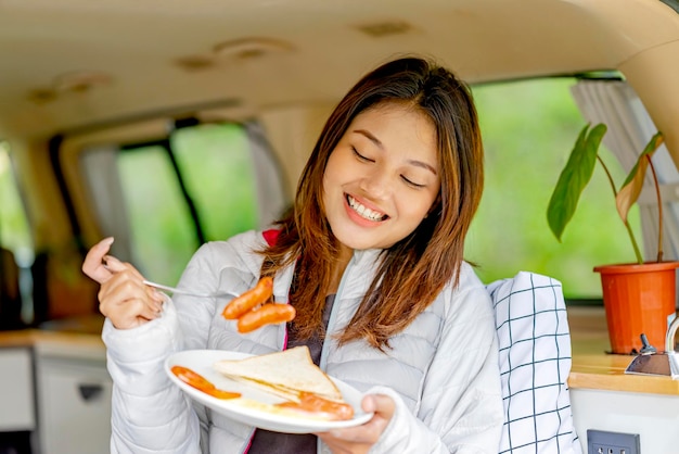
<svg viewBox="0 0 679 454">
<path fill-rule="evenodd" d="M 607 133 L 604 146 L 613 152 L 626 173 L 637 162 L 639 153 L 657 131 L 643 103 L 624 80 L 580 80 L 572 94 L 586 121 L 595 125 L 604 123 Z M 663 197 L 663 260 L 679 256 L 679 172 L 665 146 L 653 155 Z M 617 181 L 619 185 L 623 181 Z M 654 261 L 657 253 L 657 203 L 651 172 L 646 173 L 644 188 L 639 198 L 643 230 L 644 258 Z"/>
</svg>

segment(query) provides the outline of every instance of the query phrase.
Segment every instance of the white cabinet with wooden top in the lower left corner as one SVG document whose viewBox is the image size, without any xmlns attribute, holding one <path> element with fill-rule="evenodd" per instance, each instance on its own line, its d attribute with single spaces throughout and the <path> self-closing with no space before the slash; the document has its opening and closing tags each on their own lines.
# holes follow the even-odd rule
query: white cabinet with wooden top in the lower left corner
<svg viewBox="0 0 679 454">
<path fill-rule="evenodd" d="M 0 332 L 0 452 L 107 454 L 112 388 L 99 335 Z"/>
</svg>

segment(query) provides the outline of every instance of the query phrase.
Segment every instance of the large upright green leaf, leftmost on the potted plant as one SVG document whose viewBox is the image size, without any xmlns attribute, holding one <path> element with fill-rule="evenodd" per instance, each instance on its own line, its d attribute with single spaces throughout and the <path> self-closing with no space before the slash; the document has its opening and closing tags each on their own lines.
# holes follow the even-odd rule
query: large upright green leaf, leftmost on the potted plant
<svg viewBox="0 0 679 454">
<path fill-rule="evenodd" d="M 599 146 L 606 134 L 604 124 L 598 124 L 591 130 L 589 126 L 586 125 L 580 131 L 547 207 L 547 222 L 559 241 L 575 213 L 582 190 L 594 173 Z"/>
</svg>

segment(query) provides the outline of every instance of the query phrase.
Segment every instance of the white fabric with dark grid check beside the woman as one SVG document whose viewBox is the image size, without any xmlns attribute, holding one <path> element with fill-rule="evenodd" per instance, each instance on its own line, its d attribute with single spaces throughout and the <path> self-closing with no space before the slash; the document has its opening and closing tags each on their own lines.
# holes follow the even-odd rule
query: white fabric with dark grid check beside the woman
<svg viewBox="0 0 679 454">
<path fill-rule="evenodd" d="M 573 425 L 571 335 L 561 282 L 521 272 L 487 286 L 500 345 L 500 454 L 581 454 Z"/>
</svg>

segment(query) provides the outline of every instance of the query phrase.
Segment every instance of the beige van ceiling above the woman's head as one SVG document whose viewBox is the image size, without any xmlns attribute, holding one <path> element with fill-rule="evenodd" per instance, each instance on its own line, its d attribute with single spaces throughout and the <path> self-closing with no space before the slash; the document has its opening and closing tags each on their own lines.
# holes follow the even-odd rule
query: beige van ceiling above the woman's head
<svg viewBox="0 0 679 454">
<path fill-rule="evenodd" d="M 252 110 L 335 100 L 409 52 L 436 55 L 471 83 L 614 70 L 679 39 L 667 9 L 657 0 L 0 0 L 0 138 L 218 100 Z M 216 52 L 225 42 L 231 53 Z"/>
</svg>

